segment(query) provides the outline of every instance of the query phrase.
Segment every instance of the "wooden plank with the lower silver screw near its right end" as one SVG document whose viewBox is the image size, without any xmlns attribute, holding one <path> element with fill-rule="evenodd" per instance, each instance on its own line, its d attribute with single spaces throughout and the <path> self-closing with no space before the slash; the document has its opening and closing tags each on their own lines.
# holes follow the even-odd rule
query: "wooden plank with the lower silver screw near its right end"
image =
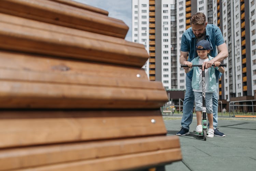
<svg viewBox="0 0 256 171">
<path fill-rule="evenodd" d="M 1 111 L 0 115 L 0 148 L 165 134 L 159 110 Z"/>
</svg>

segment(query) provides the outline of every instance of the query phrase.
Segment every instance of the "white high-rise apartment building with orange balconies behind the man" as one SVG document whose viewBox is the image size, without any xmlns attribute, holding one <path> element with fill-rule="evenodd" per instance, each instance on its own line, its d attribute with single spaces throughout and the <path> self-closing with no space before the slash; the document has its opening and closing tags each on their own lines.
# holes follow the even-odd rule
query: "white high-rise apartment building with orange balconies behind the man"
<svg viewBox="0 0 256 171">
<path fill-rule="evenodd" d="M 181 37 L 190 27 L 191 15 L 203 12 L 209 24 L 221 29 L 228 48 L 219 99 L 254 99 L 255 11 L 255 0 L 132 0 L 132 41 L 144 44 L 150 54 L 143 67 L 150 80 L 162 81 L 166 89 L 185 89 Z"/>
</svg>

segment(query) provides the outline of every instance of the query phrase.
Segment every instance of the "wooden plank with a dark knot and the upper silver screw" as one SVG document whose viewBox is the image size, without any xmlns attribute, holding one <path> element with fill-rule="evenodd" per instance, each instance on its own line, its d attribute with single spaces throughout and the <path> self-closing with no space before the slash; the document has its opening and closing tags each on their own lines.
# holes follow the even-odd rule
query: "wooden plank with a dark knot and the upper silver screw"
<svg viewBox="0 0 256 171">
<path fill-rule="evenodd" d="M 40 67 L 39 67 L 40 66 Z M 162 89 L 144 70 L 0 51 L 0 80 Z"/>
</svg>

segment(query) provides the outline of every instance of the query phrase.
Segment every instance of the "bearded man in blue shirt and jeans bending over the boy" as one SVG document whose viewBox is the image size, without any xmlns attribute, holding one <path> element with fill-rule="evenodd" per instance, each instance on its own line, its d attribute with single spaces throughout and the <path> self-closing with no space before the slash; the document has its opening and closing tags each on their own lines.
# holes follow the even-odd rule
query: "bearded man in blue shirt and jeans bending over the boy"
<svg viewBox="0 0 256 171">
<path fill-rule="evenodd" d="M 210 56 L 214 57 L 210 61 L 202 64 L 202 70 L 208 69 L 214 64 L 215 61 L 223 61 L 228 57 L 228 50 L 226 43 L 223 39 L 221 30 L 212 24 L 207 24 L 206 17 L 203 13 L 198 12 L 190 18 L 191 27 L 188 28 L 182 35 L 181 39 L 181 56 L 180 63 L 191 67 L 190 61 L 197 57 L 196 44 L 200 40 L 208 40 L 211 43 L 212 51 Z M 216 46 L 217 50 L 216 51 Z M 218 53 L 217 53 L 218 52 Z M 188 56 L 188 59 L 187 59 Z M 188 62 L 189 61 L 189 62 Z M 189 68 L 184 68 L 188 70 Z M 216 70 L 216 78 L 219 78 L 221 74 Z M 183 116 L 181 119 L 181 130 L 176 134 L 178 136 L 185 136 L 189 134 L 189 125 L 193 119 L 193 107 L 194 107 L 194 92 L 191 86 L 193 71 L 186 74 L 186 93 L 183 102 Z M 218 79 L 216 79 L 218 86 Z M 218 93 L 213 93 L 213 127 L 214 136 L 225 137 L 225 134 L 219 132 L 218 125 Z"/>
</svg>

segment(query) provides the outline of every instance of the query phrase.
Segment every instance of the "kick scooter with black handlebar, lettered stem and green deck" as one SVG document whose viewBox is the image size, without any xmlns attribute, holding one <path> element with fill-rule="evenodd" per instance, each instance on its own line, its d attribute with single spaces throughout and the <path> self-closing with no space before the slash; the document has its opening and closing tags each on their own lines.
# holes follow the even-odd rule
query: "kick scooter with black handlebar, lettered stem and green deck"
<svg viewBox="0 0 256 171">
<path fill-rule="evenodd" d="M 219 67 L 226 67 L 227 64 L 221 64 L 219 65 Z M 181 67 L 188 67 L 187 65 L 181 65 Z M 192 67 L 199 67 L 200 69 L 202 69 L 202 65 L 192 65 Z M 214 65 L 212 65 L 212 67 L 214 67 Z M 203 123 L 203 129 L 202 132 L 196 132 L 196 134 L 198 136 L 203 136 L 203 140 L 206 141 L 206 137 L 207 137 L 207 119 L 206 119 L 206 107 L 205 107 L 205 76 L 204 76 L 204 71 L 202 71 L 202 98 L 203 98 L 203 107 L 202 107 L 202 113 L 203 113 L 203 119 L 202 119 L 202 123 Z"/>
</svg>

